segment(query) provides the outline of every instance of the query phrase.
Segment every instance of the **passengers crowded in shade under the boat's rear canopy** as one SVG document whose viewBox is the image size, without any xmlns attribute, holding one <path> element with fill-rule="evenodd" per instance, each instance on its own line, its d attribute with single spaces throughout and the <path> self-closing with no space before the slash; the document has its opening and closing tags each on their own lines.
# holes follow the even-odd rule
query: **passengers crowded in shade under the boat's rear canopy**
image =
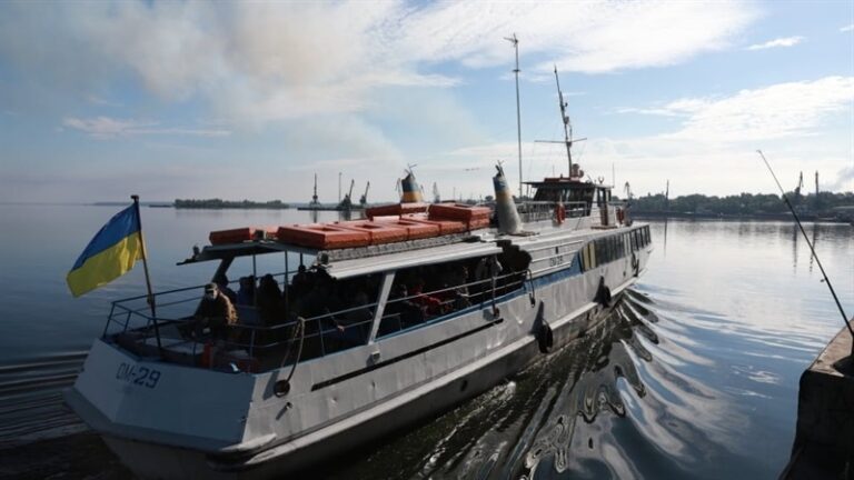
<svg viewBox="0 0 854 480">
<path fill-rule="evenodd" d="M 493 289 L 493 278 L 500 276 L 495 257 L 477 260 L 414 267 L 398 271 L 391 287 L 379 334 L 409 328 L 433 318 L 480 303 Z M 321 333 L 332 349 L 363 344 L 370 334 L 381 277 L 368 274 L 336 280 L 322 268 L 300 264 L 284 289 L 272 274 L 256 282 L 254 276 L 239 279 L 237 292 L 225 274 L 205 287 L 205 297 L 195 314 L 193 332 L 206 328 L 211 337 L 237 340 L 239 333 L 228 327 L 250 324 L 257 316 L 265 327 L 308 319 L 306 334 Z M 238 312 L 240 319 L 238 319 Z M 315 320 L 315 321 L 311 321 Z M 285 331 L 281 331 L 285 333 Z M 281 340 L 275 336 L 267 340 Z"/>
</svg>

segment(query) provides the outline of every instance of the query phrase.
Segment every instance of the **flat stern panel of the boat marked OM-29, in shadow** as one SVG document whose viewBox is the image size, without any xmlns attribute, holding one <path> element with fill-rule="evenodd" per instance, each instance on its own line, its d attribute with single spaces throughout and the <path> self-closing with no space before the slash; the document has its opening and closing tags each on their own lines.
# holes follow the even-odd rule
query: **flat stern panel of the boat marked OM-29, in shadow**
<svg viewBox="0 0 854 480">
<path fill-rule="evenodd" d="M 254 388 L 251 374 L 139 358 L 98 339 L 64 400 L 141 477 L 182 476 L 185 467 L 163 471 L 172 462 L 167 457 L 203 461 L 244 442 Z M 136 448 L 116 448 L 127 443 Z M 146 444 L 158 446 L 160 453 L 145 461 L 128 458 L 129 451 L 146 451 L 139 448 Z"/>
</svg>

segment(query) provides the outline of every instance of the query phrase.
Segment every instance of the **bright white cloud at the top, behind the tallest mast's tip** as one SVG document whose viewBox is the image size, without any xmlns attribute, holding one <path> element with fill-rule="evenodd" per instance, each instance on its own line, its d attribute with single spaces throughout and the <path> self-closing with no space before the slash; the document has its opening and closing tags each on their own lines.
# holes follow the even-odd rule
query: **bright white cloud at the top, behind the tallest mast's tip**
<svg viewBox="0 0 854 480">
<path fill-rule="evenodd" d="M 438 3 L 405 19 L 404 49 L 425 61 L 469 67 L 507 63 L 503 39 L 516 32 L 526 57 L 545 53 L 537 71 L 588 73 L 658 67 L 718 50 L 756 18 L 722 2 Z M 674 41 L 678 39 L 678 41 Z"/>
</svg>

